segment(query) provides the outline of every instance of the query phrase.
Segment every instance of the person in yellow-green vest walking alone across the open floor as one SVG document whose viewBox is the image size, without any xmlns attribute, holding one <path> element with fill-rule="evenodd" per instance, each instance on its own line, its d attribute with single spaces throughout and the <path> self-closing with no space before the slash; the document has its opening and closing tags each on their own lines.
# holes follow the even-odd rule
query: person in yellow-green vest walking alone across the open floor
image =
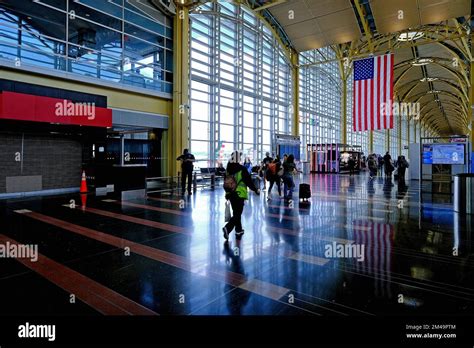
<svg viewBox="0 0 474 348">
<path fill-rule="evenodd" d="M 226 192 L 225 195 L 225 198 L 230 201 L 232 206 L 232 217 L 222 228 L 226 241 L 229 240 L 229 234 L 234 228 L 237 240 L 242 239 L 244 234 L 242 228 L 242 213 L 244 211 L 245 200 L 248 199 L 247 187 L 257 195 L 260 195 L 260 189 L 254 185 L 247 169 L 240 164 L 240 156 L 241 154 L 238 151 L 232 153 L 226 170 L 226 175 L 233 175 L 237 183 L 236 189 L 233 192 Z"/>
</svg>

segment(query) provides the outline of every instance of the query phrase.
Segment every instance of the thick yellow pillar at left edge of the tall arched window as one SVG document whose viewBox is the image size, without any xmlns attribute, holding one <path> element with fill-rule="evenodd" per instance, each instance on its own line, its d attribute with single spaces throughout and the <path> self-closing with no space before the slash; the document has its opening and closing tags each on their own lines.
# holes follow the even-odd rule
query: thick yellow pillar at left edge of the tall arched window
<svg viewBox="0 0 474 348">
<path fill-rule="evenodd" d="M 168 137 L 168 175 L 177 175 L 178 157 L 189 147 L 189 9 L 177 6 L 173 30 L 173 117 Z"/>
</svg>

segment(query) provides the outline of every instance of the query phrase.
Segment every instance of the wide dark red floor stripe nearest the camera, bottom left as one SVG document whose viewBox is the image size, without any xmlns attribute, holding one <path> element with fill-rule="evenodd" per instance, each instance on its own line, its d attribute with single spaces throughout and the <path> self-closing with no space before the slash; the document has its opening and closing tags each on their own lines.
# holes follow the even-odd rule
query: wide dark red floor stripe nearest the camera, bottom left
<svg viewBox="0 0 474 348">
<path fill-rule="evenodd" d="M 0 234 L 0 242 L 19 245 L 21 243 Z M 38 254 L 37 262 L 16 259 L 32 271 L 56 284 L 78 299 L 105 315 L 157 315 L 154 311 L 120 295 L 119 293 Z M 67 301 L 67 299 L 65 299 Z M 73 305 L 73 304 L 71 304 Z"/>
</svg>

